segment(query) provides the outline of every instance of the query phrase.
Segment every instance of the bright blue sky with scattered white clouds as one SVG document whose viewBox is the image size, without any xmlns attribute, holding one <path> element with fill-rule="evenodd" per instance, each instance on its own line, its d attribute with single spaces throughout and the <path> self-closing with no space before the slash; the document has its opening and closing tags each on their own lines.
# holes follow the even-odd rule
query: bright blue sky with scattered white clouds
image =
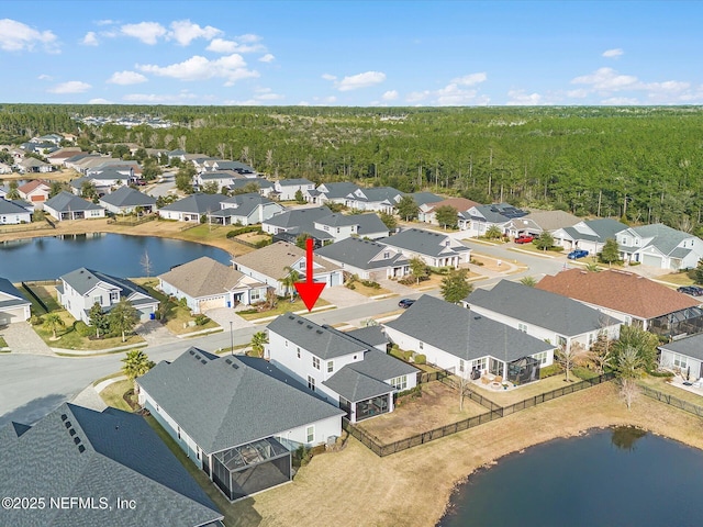
<svg viewBox="0 0 703 527">
<path fill-rule="evenodd" d="M 695 1 L 0 7 L 0 102 L 703 103 Z"/>
</svg>

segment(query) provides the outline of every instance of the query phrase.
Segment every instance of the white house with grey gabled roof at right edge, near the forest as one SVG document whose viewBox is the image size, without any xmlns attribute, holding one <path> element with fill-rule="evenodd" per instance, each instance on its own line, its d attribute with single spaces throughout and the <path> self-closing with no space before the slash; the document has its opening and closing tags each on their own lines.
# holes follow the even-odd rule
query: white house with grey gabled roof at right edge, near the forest
<svg viewBox="0 0 703 527">
<path fill-rule="evenodd" d="M 615 234 L 621 258 L 659 269 L 693 269 L 703 258 L 703 240 L 661 223 L 627 227 Z"/>
</svg>

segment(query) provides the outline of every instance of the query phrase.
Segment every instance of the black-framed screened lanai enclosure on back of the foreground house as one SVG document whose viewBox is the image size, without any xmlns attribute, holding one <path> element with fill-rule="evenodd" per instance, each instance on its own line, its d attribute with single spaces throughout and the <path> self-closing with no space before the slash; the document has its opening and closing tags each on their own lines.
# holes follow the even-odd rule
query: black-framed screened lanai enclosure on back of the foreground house
<svg viewBox="0 0 703 527">
<path fill-rule="evenodd" d="M 232 501 L 291 480 L 291 453 L 272 437 L 212 456 L 212 480 Z"/>
</svg>

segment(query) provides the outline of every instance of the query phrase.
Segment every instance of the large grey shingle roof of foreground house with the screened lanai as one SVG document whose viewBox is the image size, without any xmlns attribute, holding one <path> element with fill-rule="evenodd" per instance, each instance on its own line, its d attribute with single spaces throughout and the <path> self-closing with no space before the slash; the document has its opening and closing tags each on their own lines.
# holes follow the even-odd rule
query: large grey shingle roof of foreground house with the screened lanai
<svg viewBox="0 0 703 527">
<path fill-rule="evenodd" d="M 207 453 L 344 414 L 264 359 L 192 347 L 137 383 Z"/>
</svg>

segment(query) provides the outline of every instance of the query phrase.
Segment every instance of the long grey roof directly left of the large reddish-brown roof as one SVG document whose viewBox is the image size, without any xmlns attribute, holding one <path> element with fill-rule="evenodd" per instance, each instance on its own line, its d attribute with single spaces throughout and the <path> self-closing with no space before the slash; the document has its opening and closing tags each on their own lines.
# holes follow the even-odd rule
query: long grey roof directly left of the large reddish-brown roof
<svg viewBox="0 0 703 527">
<path fill-rule="evenodd" d="M 490 291 L 477 289 L 465 302 L 567 337 L 622 322 L 567 296 L 510 280 L 501 280 Z"/>
</svg>

